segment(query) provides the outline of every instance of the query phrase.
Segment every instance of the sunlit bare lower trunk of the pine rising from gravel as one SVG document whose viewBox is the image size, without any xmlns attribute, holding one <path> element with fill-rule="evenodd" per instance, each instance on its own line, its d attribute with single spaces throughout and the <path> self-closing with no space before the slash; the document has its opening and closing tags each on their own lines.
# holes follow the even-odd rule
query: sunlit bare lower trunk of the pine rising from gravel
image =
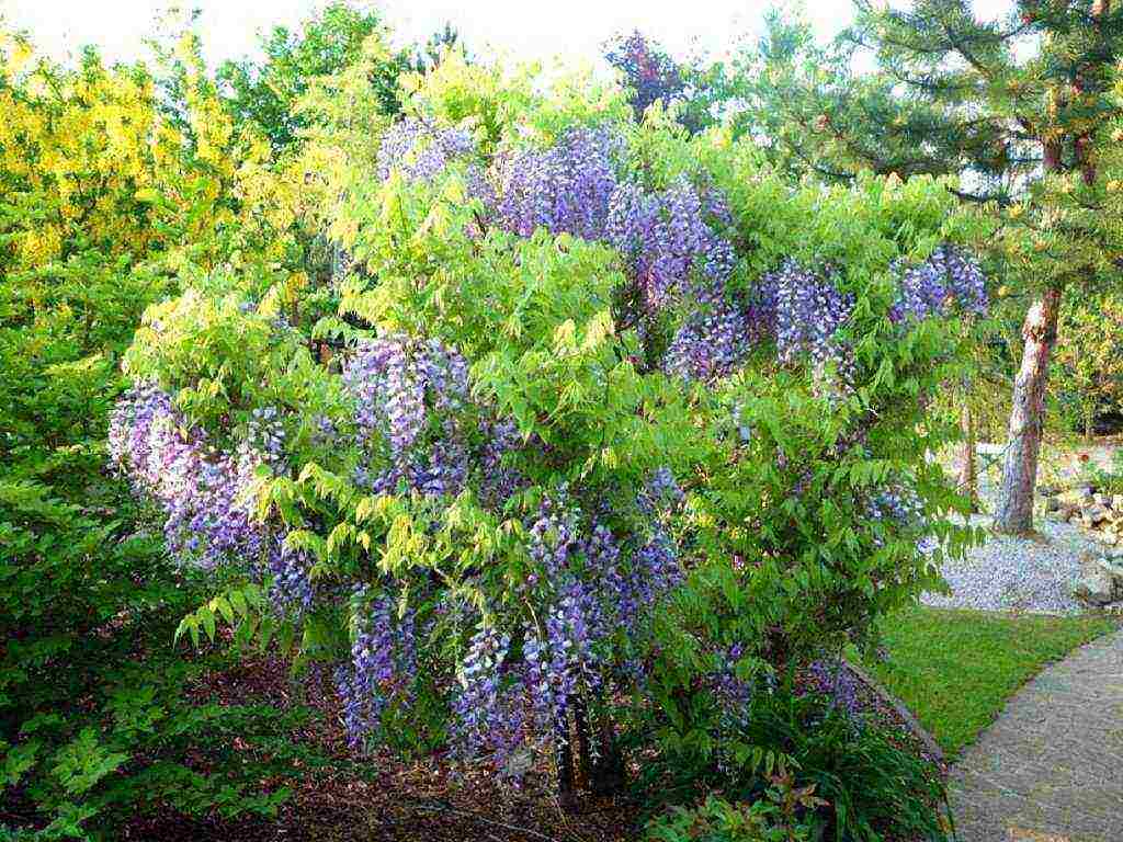
<svg viewBox="0 0 1123 842">
<path fill-rule="evenodd" d="M 1002 497 L 994 516 L 998 532 L 1022 534 L 1033 530 L 1033 491 L 1046 410 L 1049 356 L 1057 340 L 1060 290 L 1048 289 L 1025 314 L 1022 367 L 1014 381 L 1014 405 L 1002 470 Z"/>
</svg>

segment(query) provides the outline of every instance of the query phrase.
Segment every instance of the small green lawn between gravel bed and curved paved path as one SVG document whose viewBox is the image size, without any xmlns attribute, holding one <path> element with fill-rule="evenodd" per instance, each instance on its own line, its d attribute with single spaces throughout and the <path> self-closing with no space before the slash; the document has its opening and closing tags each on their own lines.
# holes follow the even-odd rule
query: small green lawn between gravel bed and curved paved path
<svg viewBox="0 0 1123 842">
<path fill-rule="evenodd" d="M 869 669 L 952 758 L 1048 663 L 1117 626 L 1117 621 L 1098 616 L 917 606 L 884 621 L 889 658 Z"/>
</svg>

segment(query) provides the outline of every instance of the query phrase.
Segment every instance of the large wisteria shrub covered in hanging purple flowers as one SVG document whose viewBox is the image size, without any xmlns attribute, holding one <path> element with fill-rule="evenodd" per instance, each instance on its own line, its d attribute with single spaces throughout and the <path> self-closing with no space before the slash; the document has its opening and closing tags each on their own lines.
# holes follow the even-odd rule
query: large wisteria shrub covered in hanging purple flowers
<svg viewBox="0 0 1123 842">
<path fill-rule="evenodd" d="M 182 631 L 276 633 L 357 747 L 512 785 L 545 753 L 563 796 L 612 786 L 624 743 L 743 762 L 778 671 L 962 547 L 924 409 L 985 303 L 970 221 L 450 72 L 341 185 L 335 314 L 225 276 L 146 315 L 111 443 L 222 585 Z"/>
</svg>

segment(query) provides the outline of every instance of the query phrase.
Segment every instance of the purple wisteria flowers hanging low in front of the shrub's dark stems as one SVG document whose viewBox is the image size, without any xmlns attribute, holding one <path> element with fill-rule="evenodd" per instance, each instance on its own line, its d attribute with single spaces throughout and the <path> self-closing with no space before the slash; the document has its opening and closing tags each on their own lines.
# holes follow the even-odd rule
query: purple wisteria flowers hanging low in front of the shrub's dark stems
<svg viewBox="0 0 1123 842">
<path fill-rule="evenodd" d="M 641 496 L 640 510 L 658 520 L 681 503 L 682 491 L 659 472 Z M 610 640 L 641 635 L 651 610 L 683 577 L 677 547 L 660 527 L 618 539 L 564 489 L 544 500 L 526 527 L 532 561 L 526 593 L 535 611 L 480 616 L 451 702 L 458 756 L 486 758 L 512 779 L 526 771 L 527 752 L 565 739 L 558 723 L 577 698 L 609 683 L 643 680 L 642 665 L 619 660 Z M 630 558 L 626 541 L 636 547 Z"/>
</svg>

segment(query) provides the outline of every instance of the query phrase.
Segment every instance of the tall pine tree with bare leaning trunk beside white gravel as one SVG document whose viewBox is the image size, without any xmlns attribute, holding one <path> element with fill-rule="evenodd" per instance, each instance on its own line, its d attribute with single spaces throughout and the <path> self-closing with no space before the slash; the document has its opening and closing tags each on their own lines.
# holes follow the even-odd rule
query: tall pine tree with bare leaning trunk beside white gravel
<svg viewBox="0 0 1123 842">
<path fill-rule="evenodd" d="M 1120 113 L 1123 3 L 1019 0 L 992 21 L 968 0 L 856 7 L 829 48 L 772 19 L 745 128 L 770 138 L 778 163 L 831 180 L 959 175 L 960 198 L 995 214 L 994 242 L 1032 300 L 995 528 L 1025 532 L 1061 291 L 1117 273 L 1097 150 Z M 871 71 L 853 70 L 858 51 L 873 52 Z"/>
</svg>

